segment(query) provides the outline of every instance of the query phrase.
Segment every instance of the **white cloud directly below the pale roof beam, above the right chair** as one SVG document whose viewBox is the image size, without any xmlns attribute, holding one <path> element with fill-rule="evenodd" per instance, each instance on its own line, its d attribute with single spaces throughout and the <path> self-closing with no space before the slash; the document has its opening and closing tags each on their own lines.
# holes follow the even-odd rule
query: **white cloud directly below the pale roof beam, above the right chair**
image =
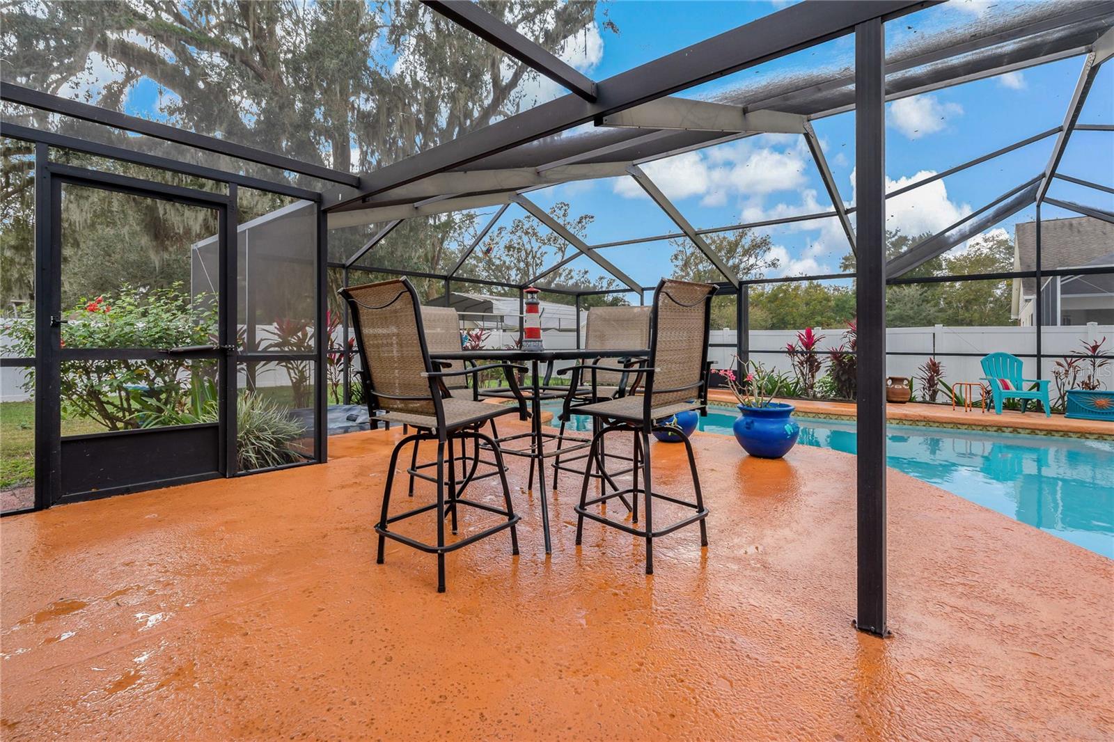
<svg viewBox="0 0 1114 742">
<path fill-rule="evenodd" d="M 761 198 L 779 191 L 795 191 L 805 184 L 808 162 L 798 140 L 780 149 L 749 141 L 690 152 L 643 165 L 655 184 L 673 199 L 701 196 L 702 206 L 723 206 L 729 198 Z M 774 144 L 783 141 L 775 139 Z M 631 178 L 615 183 L 615 193 L 625 198 L 645 197 Z"/>
</svg>

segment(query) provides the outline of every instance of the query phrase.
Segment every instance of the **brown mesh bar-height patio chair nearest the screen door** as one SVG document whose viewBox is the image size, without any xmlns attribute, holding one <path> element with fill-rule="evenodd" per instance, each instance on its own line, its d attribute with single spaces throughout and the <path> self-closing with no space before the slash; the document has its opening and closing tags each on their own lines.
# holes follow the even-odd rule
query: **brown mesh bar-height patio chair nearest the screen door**
<svg viewBox="0 0 1114 742">
<path fill-rule="evenodd" d="M 383 551 L 388 538 L 405 544 L 427 554 L 437 555 L 437 589 L 444 592 L 444 555 L 473 544 L 500 530 L 510 529 L 511 554 L 518 554 L 518 534 L 515 525 L 520 516 L 515 514 L 507 486 L 502 457 L 495 441 L 480 432 L 479 427 L 501 414 L 516 412 L 514 407 L 486 404 L 475 400 L 450 396 L 446 380 L 468 373 L 490 369 L 501 369 L 511 389 L 517 388 L 514 371 L 518 367 L 491 363 L 465 370 L 436 370 L 429 357 L 429 348 L 422 321 L 421 306 L 413 286 L 405 279 L 370 283 L 341 290 L 341 295 L 351 309 L 360 357 L 363 362 L 363 383 L 367 392 L 371 420 L 405 424 L 416 432 L 403 436 L 391 451 L 387 482 L 383 487 L 383 505 L 375 533 L 379 534 L 379 549 L 375 562 L 383 564 Z M 459 497 L 456 481 L 455 443 L 471 439 L 477 445 L 486 443 L 492 450 L 496 471 L 502 486 L 506 509 Z M 437 441 L 437 501 L 394 516 L 390 515 L 391 486 L 399 452 L 411 443 L 426 440 Z M 446 453 L 448 452 L 448 457 Z M 446 481 L 446 459 L 449 471 Z M 448 495 L 448 497 L 446 497 Z M 444 519 L 451 517 L 453 531 L 457 526 L 458 506 L 468 506 L 507 518 L 489 528 L 452 544 L 446 543 Z M 403 536 L 390 528 L 392 524 L 436 510 L 437 544 L 426 544 Z"/>
</svg>

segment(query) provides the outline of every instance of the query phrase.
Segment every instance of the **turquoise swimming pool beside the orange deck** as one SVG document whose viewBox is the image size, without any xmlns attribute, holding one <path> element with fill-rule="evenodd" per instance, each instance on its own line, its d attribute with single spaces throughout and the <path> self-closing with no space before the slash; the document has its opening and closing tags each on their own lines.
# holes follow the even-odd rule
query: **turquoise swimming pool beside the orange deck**
<svg viewBox="0 0 1114 742">
<path fill-rule="evenodd" d="M 713 407 L 698 429 L 731 436 L 736 417 Z M 853 422 L 794 417 L 799 445 L 856 452 Z M 588 426 L 573 420 L 576 430 Z M 898 471 L 1114 559 L 1114 441 L 893 424 L 887 432 Z"/>
</svg>

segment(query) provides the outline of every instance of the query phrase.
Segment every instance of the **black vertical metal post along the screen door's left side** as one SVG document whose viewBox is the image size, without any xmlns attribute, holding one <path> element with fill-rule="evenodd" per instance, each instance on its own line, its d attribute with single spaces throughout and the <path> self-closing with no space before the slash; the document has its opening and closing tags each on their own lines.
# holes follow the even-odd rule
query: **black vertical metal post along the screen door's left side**
<svg viewBox="0 0 1114 742">
<path fill-rule="evenodd" d="M 35 145 L 35 509 L 61 497 L 61 251 L 55 230 L 61 188 L 47 169 L 49 148 Z M 60 219 L 59 219 L 60 221 Z"/>
</svg>

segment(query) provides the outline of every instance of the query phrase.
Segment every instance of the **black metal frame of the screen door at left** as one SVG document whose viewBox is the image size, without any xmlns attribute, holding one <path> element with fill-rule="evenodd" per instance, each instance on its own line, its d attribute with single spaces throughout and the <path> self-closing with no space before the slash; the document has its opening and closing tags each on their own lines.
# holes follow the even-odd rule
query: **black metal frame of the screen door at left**
<svg viewBox="0 0 1114 742">
<path fill-rule="evenodd" d="M 217 291 L 217 345 L 185 353 L 189 358 L 215 359 L 218 380 L 218 471 L 145 485 L 106 487 L 95 492 L 65 497 L 65 501 L 94 499 L 125 491 L 182 484 L 186 480 L 232 477 L 236 473 L 236 185 L 218 194 L 183 186 L 101 173 L 51 163 L 46 145 L 36 148 L 36 479 L 35 509 L 63 501 L 61 488 L 61 362 L 81 355 L 60 346 L 61 341 L 61 186 L 72 184 L 125 193 L 145 198 L 211 208 L 217 212 L 219 289 Z M 85 353 L 88 357 L 90 353 Z M 162 358 L 152 349 L 114 349 L 97 358 Z M 158 430 L 158 429 L 154 429 Z M 150 485 L 149 487 L 146 485 Z"/>
</svg>

